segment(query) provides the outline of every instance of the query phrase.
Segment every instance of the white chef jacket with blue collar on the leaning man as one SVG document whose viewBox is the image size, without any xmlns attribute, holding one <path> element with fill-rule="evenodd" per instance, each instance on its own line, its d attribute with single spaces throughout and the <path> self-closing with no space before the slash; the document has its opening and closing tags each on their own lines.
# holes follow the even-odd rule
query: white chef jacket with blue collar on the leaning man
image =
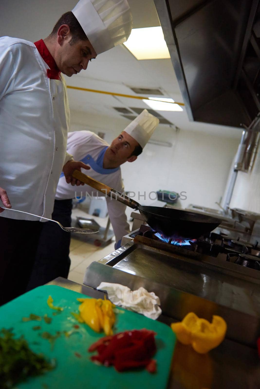
<svg viewBox="0 0 260 389">
<path fill-rule="evenodd" d="M 81 169 L 81 171 L 119 192 L 123 192 L 124 186 L 120 167 L 115 169 L 103 168 L 104 152 L 108 146 L 109 144 L 107 144 L 105 140 L 91 131 L 75 131 L 69 132 L 68 134 L 67 152 L 72 154 L 77 161 L 83 161 L 90 165 L 90 170 Z M 98 192 L 96 189 L 93 189 L 86 184 L 74 187 L 67 184 L 62 173 L 55 198 L 57 200 L 75 197 L 81 198 L 86 196 L 86 192 L 90 196 L 105 196 L 104 193 Z M 106 201 L 109 218 L 116 236 L 116 242 L 118 242 L 124 235 L 130 232 L 129 224 L 126 221 L 126 206 L 114 199 L 111 200 L 109 196 L 106 198 Z"/>
</svg>

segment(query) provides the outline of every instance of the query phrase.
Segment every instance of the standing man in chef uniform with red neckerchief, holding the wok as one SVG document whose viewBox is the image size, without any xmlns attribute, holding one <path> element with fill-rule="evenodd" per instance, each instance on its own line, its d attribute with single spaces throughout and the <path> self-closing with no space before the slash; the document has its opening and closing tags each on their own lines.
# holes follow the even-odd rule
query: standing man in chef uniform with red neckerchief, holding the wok
<svg viewBox="0 0 260 389">
<path fill-rule="evenodd" d="M 7 208 L 51 218 L 61 171 L 68 184 L 81 167 L 66 152 L 69 104 L 63 74 L 125 42 L 127 0 L 80 0 L 52 33 L 32 43 L 0 38 L 0 200 Z M 1 204 L 1 203 L 0 203 Z M 44 223 L 0 208 L 0 305 L 23 293 Z"/>
</svg>

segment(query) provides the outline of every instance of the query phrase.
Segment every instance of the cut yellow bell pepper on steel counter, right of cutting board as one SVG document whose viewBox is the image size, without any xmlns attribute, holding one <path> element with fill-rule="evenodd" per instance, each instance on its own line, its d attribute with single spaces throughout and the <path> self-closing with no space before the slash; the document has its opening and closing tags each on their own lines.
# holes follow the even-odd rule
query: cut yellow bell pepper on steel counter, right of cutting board
<svg viewBox="0 0 260 389">
<path fill-rule="evenodd" d="M 188 313 L 181 322 L 171 324 L 172 331 L 183 344 L 191 344 L 200 354 L 214 349 L 223 341 L 227 323 L 220 316 L 213 315 L 212 323 L 200 319 L 193 312 Z"/>
</svg>

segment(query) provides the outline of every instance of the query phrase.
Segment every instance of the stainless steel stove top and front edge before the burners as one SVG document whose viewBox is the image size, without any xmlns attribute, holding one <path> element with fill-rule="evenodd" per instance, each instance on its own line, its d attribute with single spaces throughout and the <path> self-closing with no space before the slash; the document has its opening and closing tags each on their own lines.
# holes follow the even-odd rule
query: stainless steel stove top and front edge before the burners
<svg viewBox="0 0 260 389">
<path fill-rule="evenodd" d="M 255 344 L 260 271 L 204 254 L 198 247 L 187 249 L 139 235 L 139 230 L 124 237 L 122 244 L 88 267 L 85 285 L 95 288 L 106 281 L 132 290 L 143 286 L 159 296 L 163 314 L 182 319 L 193 311 L 209 320 L 218 314 L 225 317 L 231 339 Z"/>
</svg>

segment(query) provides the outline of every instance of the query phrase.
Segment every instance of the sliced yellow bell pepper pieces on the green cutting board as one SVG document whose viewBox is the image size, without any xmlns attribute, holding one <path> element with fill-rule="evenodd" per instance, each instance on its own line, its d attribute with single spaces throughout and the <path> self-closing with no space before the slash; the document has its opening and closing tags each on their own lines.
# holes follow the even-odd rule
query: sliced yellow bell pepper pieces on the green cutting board
<svg viewBox="0 0 260 389">
<path fill-rule="evenodd" d="M 90 328 L 96 332 L 104 329 L 105 335 L 112 335 L 112 326 L 115 322 L 114 304 L 109 300 L 99 298 L 78 298 L 81 302 L 79 315 Z"/>
</svg>

